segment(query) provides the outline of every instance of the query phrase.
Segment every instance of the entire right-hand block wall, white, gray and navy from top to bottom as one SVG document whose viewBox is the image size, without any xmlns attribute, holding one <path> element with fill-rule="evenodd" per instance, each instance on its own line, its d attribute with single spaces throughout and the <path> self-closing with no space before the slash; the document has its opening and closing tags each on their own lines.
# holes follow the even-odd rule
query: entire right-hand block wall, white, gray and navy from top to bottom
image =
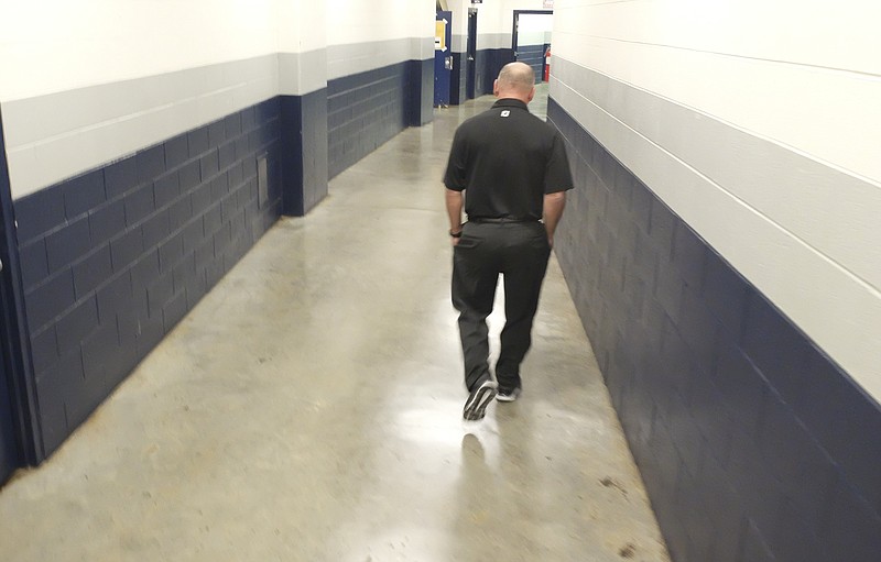
<svg viewBox="0 0 881 562">
<path fill-rule="evenodd" d="M 555 7 L 557 255 L 674 560 L 874 561 L 872 9 L 717 8 Z"/>
</svg>

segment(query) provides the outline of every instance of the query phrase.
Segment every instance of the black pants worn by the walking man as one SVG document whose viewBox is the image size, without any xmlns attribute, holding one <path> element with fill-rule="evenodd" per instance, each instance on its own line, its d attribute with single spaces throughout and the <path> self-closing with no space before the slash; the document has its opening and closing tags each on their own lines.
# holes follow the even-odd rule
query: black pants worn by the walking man
<svg viewBox="0 0 881 562">
<path fill-rule="evenodd" d="M 453 255 L 453 306 L 459 311 L 465 386 L 489 376 L 489 330 L 499 274 L 504 276 L 504 329 L 496 364 L 502 388 L 520 386 L 520 364 L 532 342 L 532 321 L 551 246 L 541 222 L 476 223 L 464 227 Z"/>
</svg>

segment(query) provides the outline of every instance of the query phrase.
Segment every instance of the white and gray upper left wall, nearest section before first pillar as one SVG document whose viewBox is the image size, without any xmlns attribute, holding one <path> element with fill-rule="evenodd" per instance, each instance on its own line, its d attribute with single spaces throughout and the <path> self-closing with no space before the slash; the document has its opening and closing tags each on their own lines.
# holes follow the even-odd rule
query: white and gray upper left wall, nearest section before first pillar
<svg viewBox="0 0 881 562">
<path fill-rule="evenodd" d="M 13 198 L 278 96 L 278 53 L 297 48 L 284 0 L 0 0 L 0 13 Z"/>
</svg>

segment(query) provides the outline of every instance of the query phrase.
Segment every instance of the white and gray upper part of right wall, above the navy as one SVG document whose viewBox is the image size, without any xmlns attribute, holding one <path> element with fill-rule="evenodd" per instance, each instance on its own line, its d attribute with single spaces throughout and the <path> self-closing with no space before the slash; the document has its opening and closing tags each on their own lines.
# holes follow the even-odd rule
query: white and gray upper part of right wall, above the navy
<svg viewBox="0 0 881 562">
<path fill-rule="evenodd" d="M 556 0 L 552 96 L 881 398 L 881 4 Z M 689 122 L 586 95 L 589 71 Z M 668 103 L 667 103 L 668 106 Z M 672 114 L 672 113 L 671 113 Z M 695 137 L 705 119 L 719 135 Z M 765 158 L 725 129 L 807 156 Z M 749 159 L 741 159 L 747 158 Z M 814 167 L 812 167 L 814 169 Z M 844 187 L 847 185 L 848 187 Z"/>
</svg>

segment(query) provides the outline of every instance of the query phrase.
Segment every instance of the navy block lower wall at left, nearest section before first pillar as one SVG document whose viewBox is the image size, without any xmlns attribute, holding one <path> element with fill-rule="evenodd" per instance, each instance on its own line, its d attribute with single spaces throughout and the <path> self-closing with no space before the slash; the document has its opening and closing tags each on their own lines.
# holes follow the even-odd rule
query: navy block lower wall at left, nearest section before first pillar
<svg viewBox="0 0 881 562">
<path fill-rule="evenodd" d="M 281 123 L 275 98 L 15 201 L 46 455 L 279 218 Z"/>
</svg>

